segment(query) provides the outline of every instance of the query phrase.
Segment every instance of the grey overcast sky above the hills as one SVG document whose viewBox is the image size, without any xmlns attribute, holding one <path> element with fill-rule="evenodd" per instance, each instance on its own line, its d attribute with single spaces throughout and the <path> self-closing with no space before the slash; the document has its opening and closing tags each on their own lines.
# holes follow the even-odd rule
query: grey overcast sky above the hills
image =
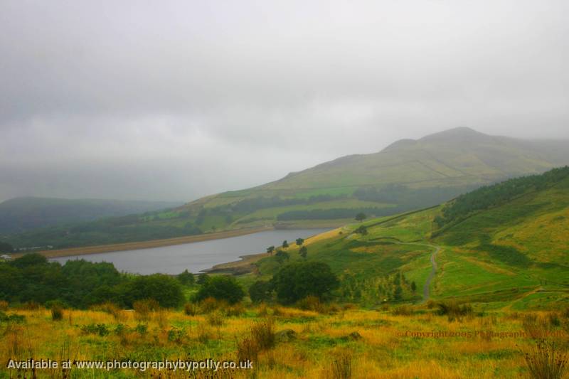
<svg viewBox="0 0 569 379">
<path fill-rule="evenodd" d="M 569 137 L 569 1 L 0 1 L 0 201 L 190 201 L 468 126 Z"/>
</svg>

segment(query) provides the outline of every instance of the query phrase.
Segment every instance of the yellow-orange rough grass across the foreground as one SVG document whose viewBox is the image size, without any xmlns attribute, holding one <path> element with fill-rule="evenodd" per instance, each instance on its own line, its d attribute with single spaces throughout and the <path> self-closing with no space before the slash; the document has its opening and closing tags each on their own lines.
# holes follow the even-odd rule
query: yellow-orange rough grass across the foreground
<svg viewBox="0 0 569 379">
<path fill-rule="evenodd" d="M 206 301 L 186 311 L 65 310 L 55 321 L 46 309 L 9 309 L 25 319 L 0 324 L 0 378 L 33 378 L 31 370 L 6 368 L 11 358 L 253 362 L 252 370 L 190 374 L 73 367 L 36 370 L 38 378 L 530 378 L 524 354 L 536 356 L 536 338 L 561 351 L 569 344 L 567 311 L 312 308 L 318 311 Z"/>
</svg>

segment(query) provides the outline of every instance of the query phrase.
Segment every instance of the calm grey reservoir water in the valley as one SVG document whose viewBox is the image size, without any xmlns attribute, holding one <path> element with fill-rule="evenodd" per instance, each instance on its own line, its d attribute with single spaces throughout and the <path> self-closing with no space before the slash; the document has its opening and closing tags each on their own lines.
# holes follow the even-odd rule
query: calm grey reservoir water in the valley
<svg viewBox="0 0 569 379">
<path fill-rule="evenodd" d="M 73 255 L 53 260 L 63 263 L 68 260 L 89 260 L 91 262 L 112 262 L 119 271 L 139 274 L 179 274 L 188 269 L 199 272 L 220 263 L 238 260 L 241 255 L 265 252 L 267 246 L 281 245 L 282 241 L 294 242 L 329 229 L 270 230 L 267 232 L 240 235 L 203 242 L 186 243 L 151 249 L 104 252 L 100 254 Z"/>
</svg>

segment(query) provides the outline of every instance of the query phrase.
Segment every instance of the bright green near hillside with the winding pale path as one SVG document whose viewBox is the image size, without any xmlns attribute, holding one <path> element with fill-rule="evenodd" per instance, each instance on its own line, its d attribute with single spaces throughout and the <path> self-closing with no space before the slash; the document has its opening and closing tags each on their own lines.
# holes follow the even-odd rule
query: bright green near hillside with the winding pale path
<svg viewBox="0 0 569 379">
<path fill-rule="evenodd" d="M 346 225 L 308 240 L 306 247 L 307 260 L 326 262 L 341 275 L 344 301 L 394 301 L 398 287 L 398 300 L 425 300 L 436 250 L 430 299 L 488 308 L 566 306 L 569 167 L 486 186 L 418 212 Z M 297 246 L 281 250 L 257 262 L 255 279 L 303 259 Z"/>
</svg>

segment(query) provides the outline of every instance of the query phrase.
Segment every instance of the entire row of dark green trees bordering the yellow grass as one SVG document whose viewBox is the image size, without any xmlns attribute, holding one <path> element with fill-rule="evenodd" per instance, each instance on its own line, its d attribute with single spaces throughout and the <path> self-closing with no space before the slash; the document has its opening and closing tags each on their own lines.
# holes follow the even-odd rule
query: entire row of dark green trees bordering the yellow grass
<svg viewBox="0 0 569 379">
<path fill-rule="evenodd" d="M 11 304 L 35 302 L 85 309 L 111 301 L 131 308 L 136 301 L 154 300 L 159 306 L 176 308 L 186 301 L 183 286 L 195 283 L 195 277 L 187 270 L 176 277 L 131 275 L 118 272 L 112 263 L 70 260 L 62 266 L 39 254 L 0 263 L 0 300 Z M 235 277 L 201 274 L 197 284 L 200 287 L 193 301 L 213 297 L 235 304 L 245 297 Z M 339 280 L 328 265 L 303 261 L 283 266 L 268 282 L 255 282 L 249 294 L 252 301 L 276 299 L 291 304 L 308 296 L 327 299 L 338 287 Z"/>
</svg>

